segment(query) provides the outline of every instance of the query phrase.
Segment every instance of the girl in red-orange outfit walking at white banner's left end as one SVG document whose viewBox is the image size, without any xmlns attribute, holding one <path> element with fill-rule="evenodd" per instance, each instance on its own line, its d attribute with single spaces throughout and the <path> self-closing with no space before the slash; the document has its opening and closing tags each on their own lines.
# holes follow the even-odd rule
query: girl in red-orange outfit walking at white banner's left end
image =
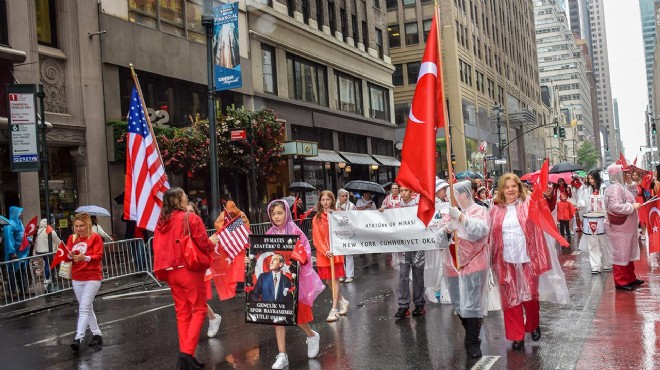
<svg viewBox="0 0 660 370">
<path fill-rule="evenodd" d="M 335 210 L 335 195 L 330 190 L 323 190 L 316 205 L 316 215 L 312 219 L 312 240 L 316 247 L 316 268 L 319 277 L 333 288 L 332 309 L 328 313 L 327 322 L 339 320 L 340 315 L 348 314 L 349 302 L 341 295 L 339 278 L 345 277 L 344 256 L 334 256 L 330 248 L 330 224 L 328 217 Z M 333 280 L 331 265 L 334 265 Z M 339 308 L 337 308 L 339 306 Z"/>
</svg>

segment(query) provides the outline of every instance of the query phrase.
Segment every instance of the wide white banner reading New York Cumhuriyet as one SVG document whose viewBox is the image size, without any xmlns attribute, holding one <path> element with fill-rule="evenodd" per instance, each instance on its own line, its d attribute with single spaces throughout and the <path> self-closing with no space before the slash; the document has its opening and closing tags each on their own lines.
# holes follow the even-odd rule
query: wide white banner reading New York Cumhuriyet
<svg viewBox="0 0 660 370">
<path fill-rule="evenodd" d="M 337 255 L 435 250 L 436 213 L 427 228 L 417 207 L 330 214 L 330 245 Z"/>
</svg>

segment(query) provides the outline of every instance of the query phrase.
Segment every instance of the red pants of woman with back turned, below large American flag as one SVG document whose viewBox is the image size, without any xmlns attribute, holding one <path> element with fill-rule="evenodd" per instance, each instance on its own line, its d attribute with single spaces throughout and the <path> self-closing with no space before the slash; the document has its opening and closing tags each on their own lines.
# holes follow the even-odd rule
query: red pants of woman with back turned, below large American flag
<svg viewBox="0 0 660 370">
<path fill-rule="evenodd" d="M 174 298 L 179 350 L 194 356 L 199 333 L 206 318 L 204 273 L 178 268 L 167 271 L 165 280 L 170 285 Z"/>
</svg>

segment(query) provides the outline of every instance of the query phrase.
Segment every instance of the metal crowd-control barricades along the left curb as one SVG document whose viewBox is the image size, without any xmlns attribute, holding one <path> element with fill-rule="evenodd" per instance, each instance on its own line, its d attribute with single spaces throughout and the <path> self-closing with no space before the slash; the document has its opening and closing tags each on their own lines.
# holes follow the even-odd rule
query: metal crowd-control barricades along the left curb
<svg viewBox="0 0 660 370">
<path fill-rule="evenodd" d="M 145 284 L 148 278 L 158 283 L 147 246 L 142 239 L 104 243 L 103 280 L 145 274 Z M 54 255 L 44 253 L 0 262 L 0 307 L 70 290 L 71 280 L 60 276 L 60 266 L 50 268 Z"/>
</svg>

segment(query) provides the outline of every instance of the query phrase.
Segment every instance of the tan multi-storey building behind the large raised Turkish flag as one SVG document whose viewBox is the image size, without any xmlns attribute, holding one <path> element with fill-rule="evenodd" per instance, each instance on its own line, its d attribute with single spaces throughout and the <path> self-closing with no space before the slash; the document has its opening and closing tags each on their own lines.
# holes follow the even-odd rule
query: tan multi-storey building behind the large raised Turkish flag
<svg viewBox="0 0 660 370">
<path fill-rule="evenodd" d="M 457 171 L 525 173 L 545 157 L 543 106 L 540 103 L 533 9 L 527 1 L 440 2 L 445 97 Z M 433 18 L 429 0 L 387 1 L 387 29 L 392 63 L 395 121 L 405 127 L 420 61 Z M 538 129 L 536 129 L 538 128 Z M 403 131 L 403 130 L 401 130 Z M 403 137 L 401 134 L 400 137 Z M 495 166 L 479 153 L 487 143 Z M 404 143 L 405 145 L 405 143 Z M 446 158 L 444 134 L 438 158 Z M 438 160 L 440 176 L 447 168 Z"/>
</svg>

